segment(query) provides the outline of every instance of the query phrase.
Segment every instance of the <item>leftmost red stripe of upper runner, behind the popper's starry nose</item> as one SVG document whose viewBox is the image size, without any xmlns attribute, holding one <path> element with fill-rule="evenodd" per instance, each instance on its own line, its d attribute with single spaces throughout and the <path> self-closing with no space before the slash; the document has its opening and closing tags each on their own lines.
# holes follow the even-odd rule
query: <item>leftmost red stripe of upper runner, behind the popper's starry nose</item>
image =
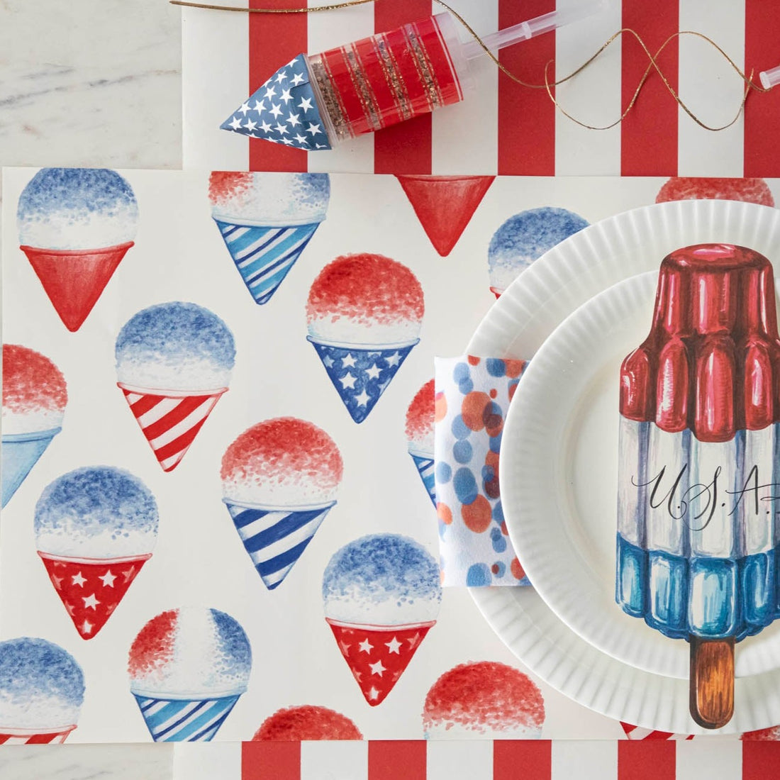
<svg viewBox="0 0 780 780">
<path fill-rule="evenodd" d="M 301 8 L 303 0 L 250 0 L 250 8 Z M 253 94 L 269 76 L 293 57 L 307 51 L 305 13 L 250 13 L 249 91 Z M 307 152 L 261 139 L 249 139 L 250 171 L 305 171 Z"/>
</svg>

